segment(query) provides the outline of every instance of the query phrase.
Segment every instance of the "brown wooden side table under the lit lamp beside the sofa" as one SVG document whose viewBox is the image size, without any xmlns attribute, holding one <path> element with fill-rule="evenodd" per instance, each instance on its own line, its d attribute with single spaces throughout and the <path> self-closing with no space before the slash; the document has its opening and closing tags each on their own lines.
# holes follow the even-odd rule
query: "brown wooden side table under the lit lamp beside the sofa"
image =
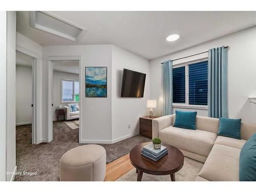
<svg viewBox="0 0 256 192">
<path fill-rule="evenodd" d="M 140 117 L 140 135 L 152 139 L 152 120 L 158 118 L 157 116 Z"/>
</svg>

